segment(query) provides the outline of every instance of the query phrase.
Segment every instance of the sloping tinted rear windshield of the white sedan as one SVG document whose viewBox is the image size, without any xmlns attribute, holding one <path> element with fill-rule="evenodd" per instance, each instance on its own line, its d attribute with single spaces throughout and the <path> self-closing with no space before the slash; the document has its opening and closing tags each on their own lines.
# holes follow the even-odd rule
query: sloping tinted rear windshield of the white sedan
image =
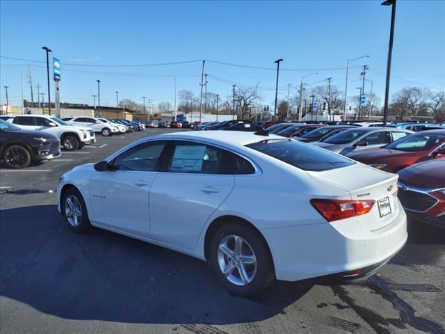
<svg viewBox="0 0 445 334">
<path fill-rule="evenodd" d="M 337 154 L 297 141 L 260 141 L 246 146 L 302 170 L 322 172 L 354 164 Z"/>
</svg>

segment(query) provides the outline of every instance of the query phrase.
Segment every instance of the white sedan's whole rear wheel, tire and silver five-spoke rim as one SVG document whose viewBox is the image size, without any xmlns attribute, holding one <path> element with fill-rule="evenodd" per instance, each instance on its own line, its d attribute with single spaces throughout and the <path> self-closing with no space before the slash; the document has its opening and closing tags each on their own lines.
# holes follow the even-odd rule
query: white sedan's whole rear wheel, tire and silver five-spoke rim
<svg viewBox="0 0 445 334">
<path fill-rule="evenodd" d="M 259 232 L 240 223 L 220 226 L 211 238 L 213 273 L 229 293 L 254 296 L 273 282 L 273 264 Z"/>
</svg>

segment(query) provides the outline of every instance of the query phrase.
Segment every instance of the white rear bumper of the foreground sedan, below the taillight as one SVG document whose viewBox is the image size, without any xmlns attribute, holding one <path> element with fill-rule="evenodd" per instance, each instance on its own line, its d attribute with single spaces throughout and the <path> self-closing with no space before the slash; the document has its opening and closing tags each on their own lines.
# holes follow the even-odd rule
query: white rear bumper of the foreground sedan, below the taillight
<svg viewBox="0 0 445 334">
<path fill-rule="evenodd" d="M 360 274 L 366 278 L 403 248 L 407 221 L 401 209 L 391 223 L 375 232 L 366 229 L 356 218 L 261 232 L 268 241 L 279 280 L 336 274 L 342 277 L 357 269 L 362 269 Z"/>
</svg>

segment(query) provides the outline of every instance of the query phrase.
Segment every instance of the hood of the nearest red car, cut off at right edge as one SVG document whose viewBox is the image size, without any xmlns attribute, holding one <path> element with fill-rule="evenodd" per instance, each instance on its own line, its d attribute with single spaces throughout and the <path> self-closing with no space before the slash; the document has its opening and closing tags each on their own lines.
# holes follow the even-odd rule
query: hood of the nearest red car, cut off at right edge
<svg viewBox="0 0 445 334">
<path fill-rule="evenodd" d="M 423 189 L 445 187 L 445 158 L 432 159 L 403 168 L 398 172 L 399 181 L 406 186 Z"/>
</svg>

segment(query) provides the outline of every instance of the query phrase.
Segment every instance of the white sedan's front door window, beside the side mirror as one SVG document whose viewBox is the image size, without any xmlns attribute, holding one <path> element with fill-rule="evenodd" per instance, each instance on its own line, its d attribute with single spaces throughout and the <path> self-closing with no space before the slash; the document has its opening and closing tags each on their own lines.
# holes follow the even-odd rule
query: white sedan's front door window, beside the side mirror
<svg viewBox="0 0 445 334">
<path fill-rule="evenodd" d="M 164 147 L 165 141 L 139 144 L 115 157 L 113 166 L 115 170 L 154 172 Z"/>
</svg>

